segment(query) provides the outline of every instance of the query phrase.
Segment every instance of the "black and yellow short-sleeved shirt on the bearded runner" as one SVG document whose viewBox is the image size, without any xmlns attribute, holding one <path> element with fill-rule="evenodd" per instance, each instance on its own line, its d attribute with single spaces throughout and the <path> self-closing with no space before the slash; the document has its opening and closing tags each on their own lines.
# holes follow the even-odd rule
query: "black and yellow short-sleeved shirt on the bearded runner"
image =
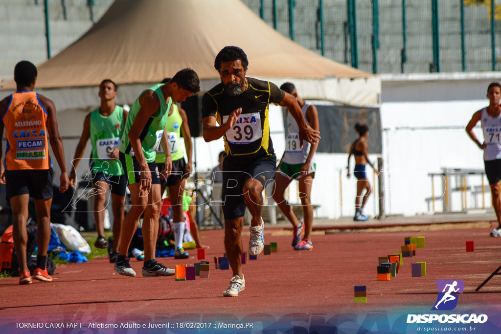
<svg viewBox="0 0 501 334">
<path fill-rule="evenodd" d="M 224 134 L 224 159 L 239 163 L 275 156 L 268 106 L 280 104 L 285 96 L 284 91 L 271 82 L 253 78 L 245 81 L 247 88 L 238 96 L 227 95 L 220 83 L 202 98 L 202 118 L 214 116 L 219 125 L 226 122 L 233 110 L 242 108 L 236 124 Z"/>
</svg>

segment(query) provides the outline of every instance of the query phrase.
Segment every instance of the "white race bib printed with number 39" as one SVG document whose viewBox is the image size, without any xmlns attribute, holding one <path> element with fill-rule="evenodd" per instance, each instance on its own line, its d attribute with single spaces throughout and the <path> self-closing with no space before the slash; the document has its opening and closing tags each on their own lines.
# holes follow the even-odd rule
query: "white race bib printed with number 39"
<svg viewBox="0 0 501 334">
<path fill-rule="evenodd" d="M 223 117 L 226 123 L 228 116 Z M 226 140 L 231 144 L 249 144 L 263 137 L 260 113 L 240 114 L 235 125 L 226 131 Z"/>
</svg>

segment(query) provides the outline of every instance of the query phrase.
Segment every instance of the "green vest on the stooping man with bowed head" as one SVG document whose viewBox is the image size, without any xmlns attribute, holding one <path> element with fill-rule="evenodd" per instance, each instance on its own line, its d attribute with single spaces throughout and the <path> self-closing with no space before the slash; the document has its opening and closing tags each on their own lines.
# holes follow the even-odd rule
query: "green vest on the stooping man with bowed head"
<svg viewBox="0 0 501 334">
<path fill-rule="evenodd" d="M 150 116 L 143 131 L 141 131 L 141 134 L 139 135 L 144 158 L 148 163 L 155 161 L 155 150 L 158 146 L 160 146 L 160 139 L 162 138 L 162 133 L 165 129 L 165 123 L 167 122 L 170 105 L 172 104 L 172 99 L 169 99 L 169 103 L 165 101 L 165 97 L 160 89 L 161 86 L 163 86 L 163 84 L 157 84 L 147 89 L 154 91 L 157 94 L 160 101 L 160 108 L 158 108 L 158 110 Z M 147 90 L 144 90 L 141 95 Z M 141 95 L 139 95 L 139 97 L 141 97 Z M 133 155 L 133 150 L 129 141 L 129 130 L 132 123 L 134 123 L 134 120 L 136 119 L 137 113 L 141 109 L 139 97 L 136 101 L 134 101 L 132 107 L 130 108 L 129 116 L 127 116 L 124 132 L 120 141 L 120 152 L 129 155 Z"/>
</svg>

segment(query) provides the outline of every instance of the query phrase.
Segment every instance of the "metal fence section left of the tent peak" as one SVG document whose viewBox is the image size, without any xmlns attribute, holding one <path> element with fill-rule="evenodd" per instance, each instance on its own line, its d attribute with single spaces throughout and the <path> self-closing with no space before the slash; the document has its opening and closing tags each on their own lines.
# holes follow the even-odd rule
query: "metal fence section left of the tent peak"
<svg viewBox="0 0 501 334">
<path fill-rule="evenodd" d="M 0 0 L 0 77 L 20 60 L 40 64 L 97 22 L 114 0 Z"/>
</svg>

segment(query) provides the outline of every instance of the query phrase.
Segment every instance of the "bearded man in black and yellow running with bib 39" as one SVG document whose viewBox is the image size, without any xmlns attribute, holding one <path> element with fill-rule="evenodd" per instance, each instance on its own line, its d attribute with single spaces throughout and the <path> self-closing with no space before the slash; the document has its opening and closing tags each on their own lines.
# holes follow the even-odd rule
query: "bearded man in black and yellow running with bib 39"
<svg viewBox="0 0 501 334">
<path fill-rule="evenodd" d="M 299 124 L 301 140 L 314 143 L 320 139 L 319 132 L 306 124 L 294 96 L 268 81 L 246 78 L 247 66 L 247 56 L 242 49 L 224 47 L 214 61 L 222 83 L 202 98 L 204 140 L 209 142 L 224 138 L 224 246 L 233 277 L 223 295 L 231 297 L 238 296 L 238 292 L 245 287 L 240 258 L 245 206 L 253 215 L 249 253 L 258 255 L 264 248 L 262 192 L 265 185 L 275 178 L 277 165 L 270 136 L 269 104 L 289 108 Z"/>
</svg>

